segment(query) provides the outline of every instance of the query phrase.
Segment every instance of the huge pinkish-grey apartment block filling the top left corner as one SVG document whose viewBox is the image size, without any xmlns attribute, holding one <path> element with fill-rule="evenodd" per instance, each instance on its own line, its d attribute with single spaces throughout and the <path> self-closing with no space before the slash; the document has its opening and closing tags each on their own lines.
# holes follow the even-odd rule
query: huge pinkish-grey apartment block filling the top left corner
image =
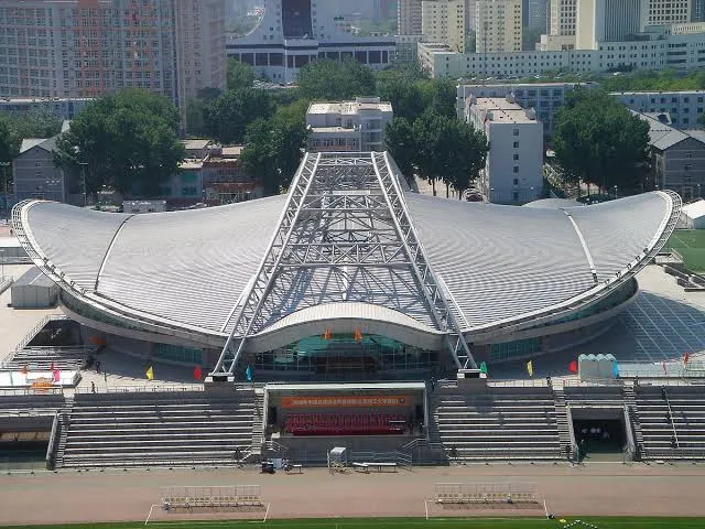
<svg viewBox="0 0 705 529">
<path fill-rule="evenodd" d="M 224 0 L 6 0 L 0 97 L 225 88 Z"/>
</svg>

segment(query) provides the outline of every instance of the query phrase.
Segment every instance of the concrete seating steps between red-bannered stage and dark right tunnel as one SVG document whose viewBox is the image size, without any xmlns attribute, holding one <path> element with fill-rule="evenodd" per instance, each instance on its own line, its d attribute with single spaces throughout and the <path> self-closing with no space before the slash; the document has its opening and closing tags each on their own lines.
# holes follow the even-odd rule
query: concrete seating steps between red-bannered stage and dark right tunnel
<svg viewBox="0 0 705 529">
<path fill-rule="evenodd" d="M 432 395 L 431 411 L 452 458 L 563 457 L 554 396 L 549 387 L 487 388 L 481 393 L 446 388 Z"/>
</svg>

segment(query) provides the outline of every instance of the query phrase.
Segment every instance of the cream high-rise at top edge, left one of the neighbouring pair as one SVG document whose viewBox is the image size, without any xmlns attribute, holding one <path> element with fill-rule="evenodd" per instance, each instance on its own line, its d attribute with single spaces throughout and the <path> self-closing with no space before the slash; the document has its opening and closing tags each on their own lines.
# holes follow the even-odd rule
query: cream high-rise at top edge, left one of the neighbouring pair
<svg viewBox="0 0 705 529">
<path fill-rule="evenodd" d="M 465 0 L 423 0 L 421 32 L 426 41 L 465 52 Z"/>
</svg>

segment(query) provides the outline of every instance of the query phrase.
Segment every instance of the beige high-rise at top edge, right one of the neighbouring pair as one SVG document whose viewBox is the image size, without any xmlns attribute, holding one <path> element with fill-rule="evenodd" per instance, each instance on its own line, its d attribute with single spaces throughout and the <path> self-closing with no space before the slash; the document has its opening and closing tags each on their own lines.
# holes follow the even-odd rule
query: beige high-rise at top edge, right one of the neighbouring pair
<svg viewBox="0 0 705 529">
<path fill-rule="evenodd" d="M 521 0 L 477 0 L 477 53 L 521 51 Z"/>
</svg>

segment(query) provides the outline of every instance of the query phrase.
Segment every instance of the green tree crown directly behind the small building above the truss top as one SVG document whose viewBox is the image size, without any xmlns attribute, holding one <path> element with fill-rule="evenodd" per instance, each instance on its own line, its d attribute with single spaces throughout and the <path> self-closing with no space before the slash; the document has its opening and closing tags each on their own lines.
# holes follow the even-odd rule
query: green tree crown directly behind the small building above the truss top
<svg viewBox="0 0 705 529">
<path fill-rule="evenodd" d="M 375 94 L 375 75 L 357 61 L 321 60 L 299 71 L 299 89 L 311 99 L 344 100 Z"/>
</svg>

